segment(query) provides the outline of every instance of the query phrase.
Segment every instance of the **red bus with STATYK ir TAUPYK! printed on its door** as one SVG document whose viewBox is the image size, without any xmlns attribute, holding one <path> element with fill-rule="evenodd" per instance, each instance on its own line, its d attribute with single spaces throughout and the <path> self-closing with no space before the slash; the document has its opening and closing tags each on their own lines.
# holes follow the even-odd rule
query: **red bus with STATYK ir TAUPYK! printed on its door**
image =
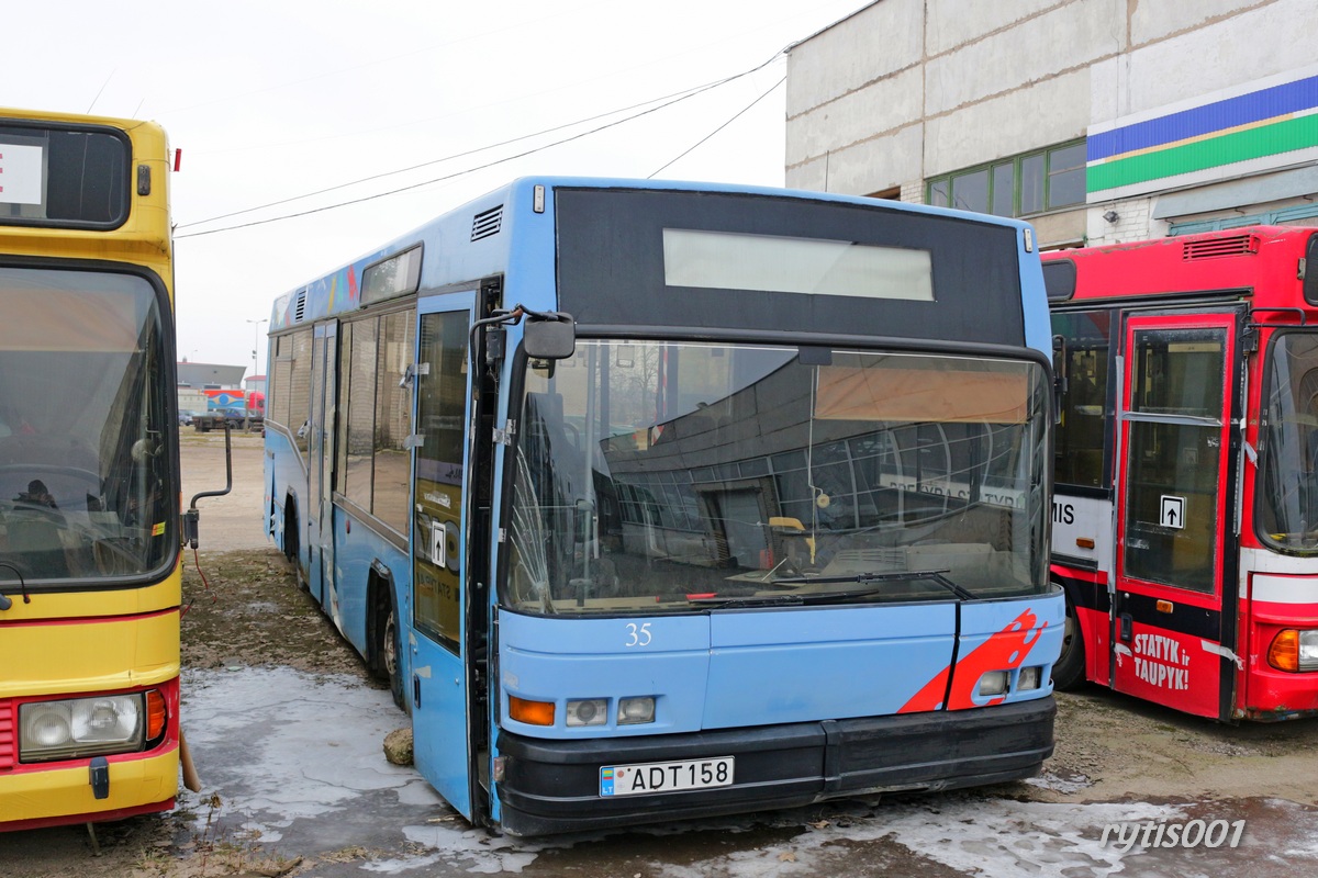
<svg viewBox="0 0 1318 878">
<path fill-rule="evenodd" d="M 1060 688 L 1318 713 L 1315 257 L 1280 226 L 1044 254 Z"/>
</svg>

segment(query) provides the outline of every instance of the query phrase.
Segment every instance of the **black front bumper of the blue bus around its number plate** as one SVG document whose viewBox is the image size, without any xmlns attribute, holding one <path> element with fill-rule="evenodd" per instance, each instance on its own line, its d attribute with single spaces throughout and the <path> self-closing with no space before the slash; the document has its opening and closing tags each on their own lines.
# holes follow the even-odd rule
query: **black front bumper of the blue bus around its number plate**
<svg viewBox="0 0 1318 878">
<path fill-rule="evenodd" d="M 536 836 L 787 808 L 902 790 L 1033 777 L 1053 753 L 1053 696 L 937 711 L 630 738 L 548 741 L 501 732 L 498 823 Z M 729 787 L 601 796 L 600 767 L 731 756 Z"/>
</svg>

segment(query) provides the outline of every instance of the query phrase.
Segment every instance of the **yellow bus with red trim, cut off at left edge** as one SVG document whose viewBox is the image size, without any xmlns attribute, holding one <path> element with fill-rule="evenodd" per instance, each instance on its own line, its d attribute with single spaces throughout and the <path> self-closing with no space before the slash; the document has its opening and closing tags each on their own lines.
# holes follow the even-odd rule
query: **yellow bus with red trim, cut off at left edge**
<svg viewBox="0 0 1318 878">
<path fill-rule="evenodd" d="M 0 831 L 178 790 L 167 157 L 149 122 L 0 109 Z"/>
</svg>

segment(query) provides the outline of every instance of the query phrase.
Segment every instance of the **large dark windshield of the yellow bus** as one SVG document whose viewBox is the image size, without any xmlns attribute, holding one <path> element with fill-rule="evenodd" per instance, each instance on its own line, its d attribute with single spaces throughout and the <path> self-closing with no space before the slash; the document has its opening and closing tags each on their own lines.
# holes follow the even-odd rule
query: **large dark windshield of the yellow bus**
<svg viewBox="0 0 1318 878">
<path fill-rule="evenodd" d="M 0 582 L 159 570 L 178 486 L 154 288 L 0 269 Z"/>
</svg>

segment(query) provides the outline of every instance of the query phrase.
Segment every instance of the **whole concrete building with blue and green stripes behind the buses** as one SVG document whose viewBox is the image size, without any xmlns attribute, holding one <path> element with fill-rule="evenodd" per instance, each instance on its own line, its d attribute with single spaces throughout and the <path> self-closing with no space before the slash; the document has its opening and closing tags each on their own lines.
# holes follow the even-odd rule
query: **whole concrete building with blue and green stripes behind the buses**
<svg viewBox="0 0 1318 878">
<path fill-rule="evenodd" d="M 878 0 L 792 46 L 787 184 L 1043 246 L 1318 225 L 1314 0 Z"/>
</svg>

